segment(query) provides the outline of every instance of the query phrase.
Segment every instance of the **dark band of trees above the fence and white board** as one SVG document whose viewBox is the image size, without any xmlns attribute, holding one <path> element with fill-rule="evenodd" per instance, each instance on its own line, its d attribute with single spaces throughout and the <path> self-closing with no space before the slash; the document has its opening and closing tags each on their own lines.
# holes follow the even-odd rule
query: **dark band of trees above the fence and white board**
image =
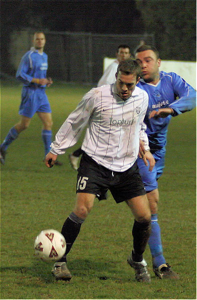
<svg viewBox="0 0 197 300">
<path fill-rule="evenodd" d="M 0 25 L 2 69 L 10 32 L 25 28 L 154 33 L 162 59 L 196 60 L 195 0 L 1 0 Z"/>
</svg>

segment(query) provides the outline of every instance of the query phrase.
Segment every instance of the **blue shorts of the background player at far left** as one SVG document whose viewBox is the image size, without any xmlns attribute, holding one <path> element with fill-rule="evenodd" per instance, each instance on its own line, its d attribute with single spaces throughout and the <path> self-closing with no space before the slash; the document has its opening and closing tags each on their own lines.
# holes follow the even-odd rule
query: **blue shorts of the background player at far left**
<svg viewBox="0 0 197 300">
<path fill-rule="evenodd" d="M 23 86 L 18 113 L 32 117 L 35 112 L 51 112 L 45 88 Z"/>
</svg>

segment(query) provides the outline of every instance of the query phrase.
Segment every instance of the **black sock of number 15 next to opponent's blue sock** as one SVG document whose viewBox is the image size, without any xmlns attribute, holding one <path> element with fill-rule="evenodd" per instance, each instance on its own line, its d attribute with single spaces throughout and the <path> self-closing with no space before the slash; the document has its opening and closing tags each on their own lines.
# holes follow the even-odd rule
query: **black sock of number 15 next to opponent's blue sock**
<svg viewBox="0 0 197 300">
<path fill-rule="evenodd" d="M 132 259 L 134 261 L 141 261 L 143 259 L 143 252 L 150 235 L 150 221 L 139 223 L 134 220 L 132 227 L 132 236 L 133 236 L 133 251 Z"/>
</svg>

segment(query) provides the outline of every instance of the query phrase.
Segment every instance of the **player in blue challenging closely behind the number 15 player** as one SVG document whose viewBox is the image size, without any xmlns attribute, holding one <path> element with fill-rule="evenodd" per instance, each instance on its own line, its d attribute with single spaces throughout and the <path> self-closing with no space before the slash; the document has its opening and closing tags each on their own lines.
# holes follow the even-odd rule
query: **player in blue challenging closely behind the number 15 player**
<svg viewBox="0 0 197 300">
<path fill-rule="evenodd" d="M 173 72 L 160 71 L 158 51 L 149 46 L 140 46 L 135 59 L 141 66 L 141 79 L 137 84 L 148 93 L 148 108 L 144 123 L 148 136 L 150 152 L 156 163 L 150 172 L 143 160 L 137 164 L 144 183 L 151 208 L 151 234 L 148 241 L 154 273 L 160 278 L 178 279 L 178 275 L 166 263 L 162 252 L 160 227 L 157 222 L 157 203 L 159 200 L 157 179 L 164 167 L 167 126 L 172 116 L 176 116 L 195 107 L 196 92 L 180 76 Z M 150 152 L 145 156 L 148 160 Z"/>
</svg>

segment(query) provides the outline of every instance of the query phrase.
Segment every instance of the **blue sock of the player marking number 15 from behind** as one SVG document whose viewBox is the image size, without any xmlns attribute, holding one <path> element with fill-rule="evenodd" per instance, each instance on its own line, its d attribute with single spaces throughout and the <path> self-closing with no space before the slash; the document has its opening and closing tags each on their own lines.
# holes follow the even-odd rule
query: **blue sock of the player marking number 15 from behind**
<svg viewBox="0 0 197 300">
<path fill-rule="evenodd" d="M 160 227 L 157 223 L 157 214 L 151 215 L 151 233 L 148 239 L 148 245 L 152 255 L 153 267 L 159 267 L 159 265 L 166 263 L 163 256 L 163 249 L 160 237 Z"/>
</svg>

